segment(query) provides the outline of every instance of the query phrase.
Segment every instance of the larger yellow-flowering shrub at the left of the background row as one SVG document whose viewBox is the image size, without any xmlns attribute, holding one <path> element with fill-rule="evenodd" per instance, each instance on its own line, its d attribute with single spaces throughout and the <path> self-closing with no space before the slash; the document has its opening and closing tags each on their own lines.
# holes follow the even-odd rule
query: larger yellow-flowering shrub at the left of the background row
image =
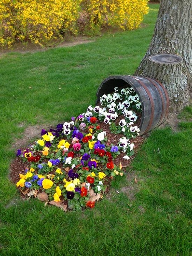
<svg viewBox="0 0 192 256">
<path fill-rule="evenodd" d="M 65 32 L 77 33 L 81 0 L 2 0 L 0 44 L 16 40 L 42 44 Z"/>
</svg>

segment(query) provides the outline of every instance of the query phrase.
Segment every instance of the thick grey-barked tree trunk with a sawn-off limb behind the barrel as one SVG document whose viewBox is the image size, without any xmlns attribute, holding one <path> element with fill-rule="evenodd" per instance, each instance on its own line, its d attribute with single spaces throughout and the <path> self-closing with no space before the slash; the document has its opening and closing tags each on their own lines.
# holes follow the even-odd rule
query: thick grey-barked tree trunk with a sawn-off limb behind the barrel
<svg viewBox="0 0 192 256">
<path fill-rule="evenodd" d="M 157 79 L 165 86 L 171 112 L 189 104 L 192 97 L 191 0 L 161 0 L 152 41 L 135 75 Z"/>
</svg>

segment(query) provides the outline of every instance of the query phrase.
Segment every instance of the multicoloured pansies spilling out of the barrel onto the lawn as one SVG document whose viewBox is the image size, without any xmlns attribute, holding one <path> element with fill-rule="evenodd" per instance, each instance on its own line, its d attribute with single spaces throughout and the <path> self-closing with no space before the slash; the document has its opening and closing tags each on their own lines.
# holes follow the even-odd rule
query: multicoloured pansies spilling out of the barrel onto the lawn
<svg viewBox="0 0 192 256">
<path fill-rule="evenodd" d="M 110 180 L 123 176 L 121 163 L 114 163 L 116 156 L 120 151 L 125 159 L 133 155 L 130 139 L 140 132 L 135 125 L 139 111 L 141 103 L 134 89 L 116 87 L 100 98 L 99 105 L 90 105 L 71 122 L 43 129 L 42 138 L 17 151 L 26 164 L 17 187 L 24 195 L 37 196 L 65 211 L 93 208 Z M 102 123 L 109 125 L 111 133 L 122 134 L 117 145 L 110 143 Z"/>
</svg>

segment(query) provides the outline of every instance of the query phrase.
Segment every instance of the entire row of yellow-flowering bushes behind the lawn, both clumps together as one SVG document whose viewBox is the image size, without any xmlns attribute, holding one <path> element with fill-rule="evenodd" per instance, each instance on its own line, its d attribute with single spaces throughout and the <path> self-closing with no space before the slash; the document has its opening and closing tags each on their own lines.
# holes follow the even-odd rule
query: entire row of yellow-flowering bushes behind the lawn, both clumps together
<svg viewBox="0 0 192 256">
<path fill-rule="evenodd" d="M 43 44 L 77 34 L 84 14 L 85 32 L 96 33 L 103 26 L 135 29 L 148 12 L 148 0 L 1 0 L 0 45 L 16 41 Z"/>
</svg>

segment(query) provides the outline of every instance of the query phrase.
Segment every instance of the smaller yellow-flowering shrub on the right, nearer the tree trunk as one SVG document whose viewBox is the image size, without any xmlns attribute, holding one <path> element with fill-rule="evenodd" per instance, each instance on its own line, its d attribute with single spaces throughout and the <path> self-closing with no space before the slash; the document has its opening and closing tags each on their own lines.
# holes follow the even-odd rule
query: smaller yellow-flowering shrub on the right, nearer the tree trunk
<svg viewBox="0 0 192 256">
<path fill-rule="evenodd" d="M 148 0 L 83 0 L 87 13 L 88 30 L 98 31 L 103 26 L 136 29 L 148 13 Z"/>
</svg>

